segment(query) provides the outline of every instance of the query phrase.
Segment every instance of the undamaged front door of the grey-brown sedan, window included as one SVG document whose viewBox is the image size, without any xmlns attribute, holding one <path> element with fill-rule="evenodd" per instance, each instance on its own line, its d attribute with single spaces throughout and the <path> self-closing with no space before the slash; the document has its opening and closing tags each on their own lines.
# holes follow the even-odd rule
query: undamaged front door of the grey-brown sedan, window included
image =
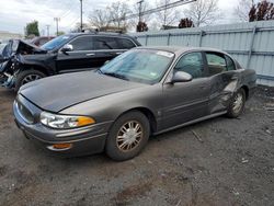
<svg viewBox="0 0 274 206">
<path fill-rule="evenodd" d="M 190 82 L 164 84 L 163 127 L 172 127 L 208 115 L 209 80 L 204 55 L 199 52 L 181 57 L 174 71 L 192 75 Z M 164 129 L 164 128 L 162 128 Z"/>
</svg>

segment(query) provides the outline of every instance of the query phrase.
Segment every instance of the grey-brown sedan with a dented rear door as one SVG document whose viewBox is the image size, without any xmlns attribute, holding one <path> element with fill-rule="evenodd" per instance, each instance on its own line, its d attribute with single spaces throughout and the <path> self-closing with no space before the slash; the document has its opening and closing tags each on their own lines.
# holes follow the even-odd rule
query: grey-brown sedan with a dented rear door
<svg viewBox="0 0 274 206">
<path fill-rule="evenodd" d="M 59 154 L 137 156 L 150 135 L 227 114 L 238 117 L 253 70 L 210 48 L 139 47 L 94 71 L 23 85 L 13 111 L 30 139 Z"/>
</svg>

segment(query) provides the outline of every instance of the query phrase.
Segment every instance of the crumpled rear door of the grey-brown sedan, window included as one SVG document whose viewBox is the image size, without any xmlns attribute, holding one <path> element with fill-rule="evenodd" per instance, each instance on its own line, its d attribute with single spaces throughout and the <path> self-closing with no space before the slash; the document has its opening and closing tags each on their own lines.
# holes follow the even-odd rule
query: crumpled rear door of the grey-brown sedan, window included
<svg viewBox="0 0 274 206">
<path fill-rule="evenodd" d="M 233 60 L 222 53 L 205 53 L 210 79 L 209 113 L 225 112 L 238 87 L 239 72 Z"/>
</svg>

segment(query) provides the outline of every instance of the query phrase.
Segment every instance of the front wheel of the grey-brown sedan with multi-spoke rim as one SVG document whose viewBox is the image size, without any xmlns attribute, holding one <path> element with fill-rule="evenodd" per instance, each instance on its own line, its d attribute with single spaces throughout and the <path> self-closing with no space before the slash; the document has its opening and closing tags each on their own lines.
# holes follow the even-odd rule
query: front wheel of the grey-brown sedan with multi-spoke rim
<svg viewBox="0 0 274 206">
<path fill-rule="evenodd" d="M 150 125 L 142 113 L 126 113 L 113 124 L 106 139 L 105 152 L 116 161 L 132 159 L 145 148 L 149 134 Z"/>
</svg>

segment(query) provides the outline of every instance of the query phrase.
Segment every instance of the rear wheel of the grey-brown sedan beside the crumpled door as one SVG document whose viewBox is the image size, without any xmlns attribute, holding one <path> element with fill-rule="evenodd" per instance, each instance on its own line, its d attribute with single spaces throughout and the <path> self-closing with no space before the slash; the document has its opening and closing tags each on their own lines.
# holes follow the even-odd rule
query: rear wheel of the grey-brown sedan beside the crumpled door
<svg viewBox="0 0 274 206">
<path fill-rule="evenodd" d="M 241 88 L 232 96 L 231 102 L 228 106 L 227 116 L 231 118 L 237 118 L 240 116 L 244 110 L 247 94 Z"/>
</svg>

